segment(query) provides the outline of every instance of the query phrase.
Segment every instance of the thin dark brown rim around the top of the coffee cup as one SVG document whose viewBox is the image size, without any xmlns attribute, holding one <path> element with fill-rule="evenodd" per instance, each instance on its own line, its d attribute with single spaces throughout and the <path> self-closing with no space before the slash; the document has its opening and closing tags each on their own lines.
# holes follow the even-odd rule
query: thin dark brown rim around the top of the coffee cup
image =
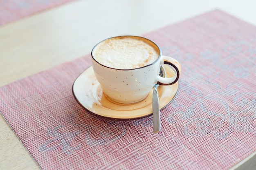
<svg viewBox="0 0 256 170">
<path fill-rule="evenodd" d="M 159 56 L 158 56 L 157 60 L 155 60 L 154 62 L 152 62 L 152 63 L 150 63 L 150 64 L 147 64 L 146 66 L 137 67 L 137 68 L 122 69 L 122 68 L 113 68 L 113 67 L 105 66 L 105 65 L 101 64 L 100 62 L 98 62 L 98 61 L 93 57 L 92 53 L 93 53 L 94 49 L 95 49 L 96 46 L 98 46 L 101 42 L 106 41 L 106 40 L 108 40 L 108 39 L 119 38 L 119 37 L 137 37 L 137 38 L 143 38 L 143 39 L 145 39 L 145 40 L 148 40 L 148 41 L 152 42 L 153 44 L 155 44 L 155 45 L 157 46 L 157 49 L 159 50 Z M 161 56 L 162 56 L 162 51 L 161 51 L 160 47 L 159 47 L 155 42 L 153 42 L 152 40 L 149 40 L 148 38 L 144 38 L 144 37 L 141 37 L 141 36 L 135 36 L 135 35 L 120 35 L 120 36 L 115 36 L 115 37 L 111 37 L 111 38 L 106 38 L 105 40 L 102 40 L 102 41 L 98 42 L 98 43 L 92 48 L 92 52 L 91 52 L 91 57 L 92 57 L 92 59 L 93 59 L 95 62 L 97 62 L 97 63 L 100 64 L 101 66 L 104 66 L 104 67 L 106 67 L 106 68 L 111 68 L 111 69 L 114 69 L 114 70 L 136 70 L 136 69 L 139 69 L 139 68 L 144 68 L 144 67 L 147 67 L 147 66 L 151 66 L 151 65 L 155 64 L 155 63 L 160 59 Z"/>
</svg>

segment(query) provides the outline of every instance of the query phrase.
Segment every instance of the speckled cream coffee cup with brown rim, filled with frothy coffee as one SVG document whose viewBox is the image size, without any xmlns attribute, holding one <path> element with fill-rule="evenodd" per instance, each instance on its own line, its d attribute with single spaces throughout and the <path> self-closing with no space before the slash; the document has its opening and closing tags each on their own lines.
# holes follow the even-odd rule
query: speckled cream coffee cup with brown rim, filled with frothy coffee
<svg viewBox="0 0 256 170">
<path fill-rule="evenodd" d="M 162 55 L 155 42 L 139 36 L 103 40 L 94 46 L 91 56 L 103 94 L 121 104 L 139 102 L 147 97 L 155 84 L 171 85 L 180 77 L 179 62 Z M 163 64 L 170 65 L 175 76 L 161 77 L 159 71 Z"/>
</svg>

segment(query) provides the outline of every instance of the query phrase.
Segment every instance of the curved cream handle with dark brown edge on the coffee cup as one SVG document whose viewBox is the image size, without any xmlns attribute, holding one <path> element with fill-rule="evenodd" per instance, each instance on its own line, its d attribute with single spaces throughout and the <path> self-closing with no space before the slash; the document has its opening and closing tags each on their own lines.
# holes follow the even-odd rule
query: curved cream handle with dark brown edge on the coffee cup
<svg viewBox="0 0 256 170">
<path fill-rule="evenodd" d="M 161 64 L 168 64 L 170 65 L 171 67 L 173 67 L 176 71 L 176 74 L 175 76 L 173 77 L 170 77 L 170 78 L 164 78 L 164 77 L 161 77 L 161 76 L 157 76 L 157 84 L 159 85 L 172 85 L 172 84 L 175 84 L 179 77 L 180 77 L 180 73 L 181 73 L 181 66 L 180 66 L 180 63 L 175 60 L 174 58 L 172 57 L 168 57 L 168 56 L 164 56 L 162 55 L 162 59 L 161 59 L 162 63 Z"/>
</svg>

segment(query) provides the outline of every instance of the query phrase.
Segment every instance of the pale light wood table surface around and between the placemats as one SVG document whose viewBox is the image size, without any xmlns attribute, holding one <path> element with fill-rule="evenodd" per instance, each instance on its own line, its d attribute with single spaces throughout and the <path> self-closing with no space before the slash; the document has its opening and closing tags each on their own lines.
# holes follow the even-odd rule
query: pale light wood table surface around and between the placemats
<svg viewBox="0 0 256 170">
<path fill-rule="evenodd" d="M 254 0 L 79 0 L 0 26 L 0 86 L 87 55 L 97 42 L 142 35 L 220 9 L 256 26 Z M 242 169 L 255 153 L 232 169 Z M 248 161 L 249 160 L 249 161 Z M 40 169 L 0 116 L 0 169 Z"/>
</svg>

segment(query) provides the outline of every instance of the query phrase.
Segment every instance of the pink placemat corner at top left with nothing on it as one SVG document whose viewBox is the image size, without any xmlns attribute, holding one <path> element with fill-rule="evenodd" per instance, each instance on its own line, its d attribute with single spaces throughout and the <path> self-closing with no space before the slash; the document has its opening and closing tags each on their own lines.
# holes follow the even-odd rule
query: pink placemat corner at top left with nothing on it
<svg viewBox="0 0 256 170">
<path fill-rule="evenodd" d="M 0 26 L 74 0 L 0 0 Z"/>
</svg>

